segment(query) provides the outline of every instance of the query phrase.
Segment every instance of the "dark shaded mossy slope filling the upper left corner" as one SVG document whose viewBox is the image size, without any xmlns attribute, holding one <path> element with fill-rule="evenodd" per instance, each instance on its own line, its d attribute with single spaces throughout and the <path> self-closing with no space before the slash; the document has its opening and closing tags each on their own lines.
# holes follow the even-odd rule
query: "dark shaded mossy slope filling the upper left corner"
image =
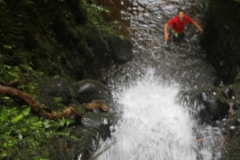
<svg viewBox="0 0 240 160">
<path fill-rule="evenodd" d="M 108 45 L 88 8 L 82 0 L 1 1 L 1 63 L 68 80 L 101 77 L 99 70 L 111 64 Z"/>
</svg>

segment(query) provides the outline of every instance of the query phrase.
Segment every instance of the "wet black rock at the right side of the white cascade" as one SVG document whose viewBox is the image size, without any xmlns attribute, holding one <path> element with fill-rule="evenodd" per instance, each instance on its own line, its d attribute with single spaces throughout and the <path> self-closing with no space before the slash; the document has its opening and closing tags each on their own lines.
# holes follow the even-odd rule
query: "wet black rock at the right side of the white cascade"
<svg viewBox="0 0 240 160">
<path fill-rule="evenodd" d="M 211 123 L 212 121 L 221 120 L 228 114 L 230 109 L 227 102 L 211 98 L 206 93 L 202 93 L 201 101 L 205 107 L 199 112 L 202 123 Z"/>
</svg>

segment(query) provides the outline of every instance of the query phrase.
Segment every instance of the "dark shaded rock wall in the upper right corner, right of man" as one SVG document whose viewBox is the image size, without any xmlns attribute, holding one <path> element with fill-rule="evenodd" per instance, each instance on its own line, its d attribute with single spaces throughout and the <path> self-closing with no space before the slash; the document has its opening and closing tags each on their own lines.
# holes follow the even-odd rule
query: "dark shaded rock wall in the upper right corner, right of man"
<svg viewBox="0 0 240 160">
<path fill-rule="evenodd" d="M 240 3 L 210 0 L 202 46 L 207 60 L 224 84 L 233 82 L 240 69 Z"/>
</svg>

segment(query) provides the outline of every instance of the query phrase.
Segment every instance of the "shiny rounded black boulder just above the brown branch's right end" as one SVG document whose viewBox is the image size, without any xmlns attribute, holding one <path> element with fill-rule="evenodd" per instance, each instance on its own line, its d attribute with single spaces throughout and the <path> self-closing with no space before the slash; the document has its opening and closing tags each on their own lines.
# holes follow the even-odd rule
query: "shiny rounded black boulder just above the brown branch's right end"
<svg viewBox="0 0 240 160">
<path fill-rule="evenodd" d="M 110 90 L 95 80 L 83 80 L 74 84 L 76 100 L 80 103 L 89 103 L 97 99 L 111 100 Z"/>
</svg>

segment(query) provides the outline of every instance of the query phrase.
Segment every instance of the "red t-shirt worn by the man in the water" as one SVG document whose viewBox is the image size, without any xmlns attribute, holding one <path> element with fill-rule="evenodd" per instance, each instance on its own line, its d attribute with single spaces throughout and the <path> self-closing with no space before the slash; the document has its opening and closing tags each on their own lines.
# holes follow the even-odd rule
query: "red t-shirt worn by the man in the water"
<svg viewBox="0 0 240 160">
<path fill-rule="evenodd" d="M 170 19 L 167 24 L 172 26 L 174 32 L 180 33 L 184 30 L 186 23 L 193 23 L 193 19 L 188 17 L 187 15 L 184 16 L 183 21 L 181 22 L 178 16 L 173 17 Z"/>
</svg>

